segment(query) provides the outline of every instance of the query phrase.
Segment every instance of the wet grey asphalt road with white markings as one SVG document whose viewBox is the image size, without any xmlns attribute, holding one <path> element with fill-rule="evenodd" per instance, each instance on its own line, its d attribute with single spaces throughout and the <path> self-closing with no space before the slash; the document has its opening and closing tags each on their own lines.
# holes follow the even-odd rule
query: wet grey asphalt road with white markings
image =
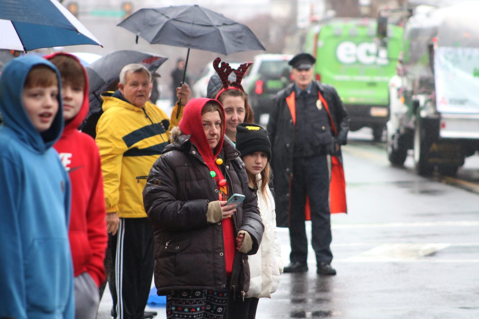
<svg viewBox="0 0 479 319">
<path fill-rule="evenodd" d="M 348 214 L 332 220 L 338 275 L 284 274 L 256 318 L 479 318 L 479 156 L 456 178 L 416 176 L 388 164 L 367 129 L 343 148 Z M 307 223 L 308 232 L 310 229 Z M 278 229 L 288 263 L 287 229 Z M 98 318 L 109 318 L 105 292 Z M 166 318 L 165 308 L 154 308 Z"/>
</svg>

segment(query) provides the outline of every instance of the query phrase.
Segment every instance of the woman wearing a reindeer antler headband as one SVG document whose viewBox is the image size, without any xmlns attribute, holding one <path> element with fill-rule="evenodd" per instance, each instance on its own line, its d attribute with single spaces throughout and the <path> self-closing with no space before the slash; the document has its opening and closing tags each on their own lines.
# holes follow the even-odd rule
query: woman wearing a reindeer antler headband
<svg viewBox="0 0 479 319">
<path fill-rule="evenodd" d="M 210 77 L 208 82 L 207 97 L 217 99 L 225 108 L 226 132 L 225 140 L 236 143 L 236 126 L 239 123 L 254 123 L 254 114 L 248 101 L 248 95 L 241 86 L 241 80 L 252 62 L 241 64 L 238 69 L 233 69 L 227 62 L 221 62 L 217 57 L 213 66 L 217 75 Z M 236 80 L 228 80 L 229 75 L 234 72 Z"/>
</svg>

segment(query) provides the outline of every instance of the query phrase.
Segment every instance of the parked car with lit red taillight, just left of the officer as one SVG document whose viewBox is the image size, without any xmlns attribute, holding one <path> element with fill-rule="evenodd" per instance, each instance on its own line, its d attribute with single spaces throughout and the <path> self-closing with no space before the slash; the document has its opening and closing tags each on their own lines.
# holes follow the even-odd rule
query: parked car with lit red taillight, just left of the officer
<svg viewBox="0 0 479 319">
<path fill-rule="evenodd" d="M 292 82 L 291 67 L 288 65 L 292 57 L 284 54 L 254 57 L 254 64 L 243 80 L 243 88 L 248 94 L 256 123 L 260 122 L 262 114 L 269 114 L 276 93 Z"/>
</svg>

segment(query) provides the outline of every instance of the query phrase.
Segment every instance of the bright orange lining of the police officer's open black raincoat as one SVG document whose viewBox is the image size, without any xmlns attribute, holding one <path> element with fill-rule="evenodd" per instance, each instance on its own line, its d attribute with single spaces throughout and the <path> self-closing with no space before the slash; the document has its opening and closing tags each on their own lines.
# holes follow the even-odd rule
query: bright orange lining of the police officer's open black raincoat
<svg viewBox="0 0 479 319">
<path fill-rule="evenodd" d="M 291 112 L 291 117 L 293 119 L 293 124 L 296 125 L 296 97 L 295 91 L 291 93 L 290 96 L 286 98 L 286 104 L 288 105 L 289 111 Z M 338 135 L 338 130 L 336 125 L 332 121 L 331 112 L 328 107 L 328 103 L 321 95 L 321 92 L 318 90 L 318 98 L 324 105 L 324 108 L 328 112 L 330 119 L 331 129 L 334 133 L 334 136 Z M 291 182 L 289 183 L 291 188 Z M 291 189 L 290 192 L 291 194 Z M 331 214 L 335 213 L 347 213 L 346 208 L 346 182 L 344 180 L 344 170 L 342 168 L 342 163 L 337 156 L 331 155 L 331 180 L 330 180 L 330 212 Z M 306 220 L 311 220 L 310 208 L 309 208 L 309 198 L 306 197 Z"/>
</svg>

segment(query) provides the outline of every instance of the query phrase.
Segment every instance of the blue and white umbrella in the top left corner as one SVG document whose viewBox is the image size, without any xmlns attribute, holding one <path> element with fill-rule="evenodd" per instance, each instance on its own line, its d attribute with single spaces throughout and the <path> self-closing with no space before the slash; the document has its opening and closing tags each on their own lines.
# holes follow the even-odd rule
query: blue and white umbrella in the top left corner
<svg viewBox="0 0 479 319">
<path fill-rule="evenodd" d="M 57 0 L 0 0 L 0 48 L 102 45 Z"/>
</svg>

